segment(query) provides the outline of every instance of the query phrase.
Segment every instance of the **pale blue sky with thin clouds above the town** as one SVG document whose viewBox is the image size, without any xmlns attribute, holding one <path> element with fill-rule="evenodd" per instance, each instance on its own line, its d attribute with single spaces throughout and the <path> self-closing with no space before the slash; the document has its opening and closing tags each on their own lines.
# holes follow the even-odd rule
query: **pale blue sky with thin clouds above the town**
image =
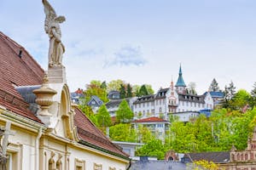
<svg viewBox="0 0 256 170">
<path fill-rule="evenodd" d="M 61 24 L 71 91 L 91 80 L 151 84 L 183 80 L 202 94 L 215 78 L 250 92 L 256 82 L 255 0 L 49 0 Z M 47 69 L 41 0 L 0 0 L 0 31 Z"/>
</svg>

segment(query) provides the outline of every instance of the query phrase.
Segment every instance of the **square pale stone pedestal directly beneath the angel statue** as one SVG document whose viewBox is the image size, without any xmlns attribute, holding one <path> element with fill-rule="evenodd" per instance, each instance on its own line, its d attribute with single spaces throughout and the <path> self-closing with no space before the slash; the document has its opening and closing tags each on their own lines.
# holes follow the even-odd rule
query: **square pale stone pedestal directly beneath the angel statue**
<svg viewBox="0 0 256 170">
<path fill-rule="evenodd" d="M 49 83 L 67 83 L 64 66 L 51 66 L 48 68 Z"/>
</svg>

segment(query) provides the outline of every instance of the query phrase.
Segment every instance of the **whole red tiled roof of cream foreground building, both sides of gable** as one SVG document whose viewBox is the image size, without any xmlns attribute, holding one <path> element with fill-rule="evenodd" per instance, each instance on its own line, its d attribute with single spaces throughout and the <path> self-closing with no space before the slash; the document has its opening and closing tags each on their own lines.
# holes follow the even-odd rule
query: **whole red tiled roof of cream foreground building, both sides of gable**
<svg viewBox="0 0 256 170">
<path fill-rule="evenodd" d="M 21 58 L 19 56 L 20 50 L 22 51 Z M 0 105 L 15 114 L 41 122 L 37 116 L 28 110 L 29 104 L 15 90 L 15 86 L 42 84 L 44 70 L 24 48 L 5 36 L 1 31 L 0 60 Z M 98 130 L 80 110 L 77 109 L 75 112 L 74 122 L 83 144 L 86 143 L 97 150 L 103 150 L 112 155 L 128 159 L 129 156 Z"/>
</svg>

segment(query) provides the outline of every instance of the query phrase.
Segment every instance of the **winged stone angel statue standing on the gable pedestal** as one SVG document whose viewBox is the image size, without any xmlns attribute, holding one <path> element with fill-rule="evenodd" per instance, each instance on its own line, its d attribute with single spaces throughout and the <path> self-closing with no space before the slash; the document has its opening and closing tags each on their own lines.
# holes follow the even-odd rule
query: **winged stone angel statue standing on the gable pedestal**
<svg viewBox="0 0 256 170">
<path fill-rule="evenodd" d="M 65 47 L 61 42 L 60 23 L 65 21 L 64 16 L 57 16 L 55 9 L 52 8 L 47 0 L 43 0 L 44 4 L 44 30 L 49 35 L 49 67 L 61 66 L 62 54 Z"/>
</svg>

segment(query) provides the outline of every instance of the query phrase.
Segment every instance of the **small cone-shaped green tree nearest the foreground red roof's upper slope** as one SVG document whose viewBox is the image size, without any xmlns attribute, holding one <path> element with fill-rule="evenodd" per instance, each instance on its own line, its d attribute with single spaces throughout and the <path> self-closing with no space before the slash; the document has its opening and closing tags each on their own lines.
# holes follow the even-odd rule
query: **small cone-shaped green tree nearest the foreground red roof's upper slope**
<svg viewBox="0 0 256 170">
<path fill-rule="evenodd" d="M 96 114 L 96 119 L 100 127 L 109 127 L 112 124 L 106 105 L 101 105 Z"/>
</svg>

